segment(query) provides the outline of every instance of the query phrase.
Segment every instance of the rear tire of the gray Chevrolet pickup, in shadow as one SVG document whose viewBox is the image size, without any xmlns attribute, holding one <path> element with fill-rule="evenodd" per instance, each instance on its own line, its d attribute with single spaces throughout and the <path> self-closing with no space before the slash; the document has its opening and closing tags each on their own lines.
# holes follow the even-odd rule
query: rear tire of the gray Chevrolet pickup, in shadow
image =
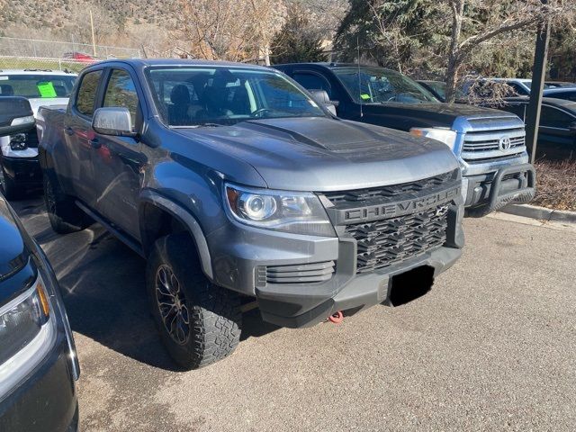
<svg viewBox="0 0 576 432">
<path fill-rule="evenodd" d="M 44 204 L 52 229 L 58 234 L 68 234 L 89 227 L 92 220 L 74 202 L 74 199 L 63 193 L 58 182 L 50 175 L 44 175 Z"/>
</svg>

